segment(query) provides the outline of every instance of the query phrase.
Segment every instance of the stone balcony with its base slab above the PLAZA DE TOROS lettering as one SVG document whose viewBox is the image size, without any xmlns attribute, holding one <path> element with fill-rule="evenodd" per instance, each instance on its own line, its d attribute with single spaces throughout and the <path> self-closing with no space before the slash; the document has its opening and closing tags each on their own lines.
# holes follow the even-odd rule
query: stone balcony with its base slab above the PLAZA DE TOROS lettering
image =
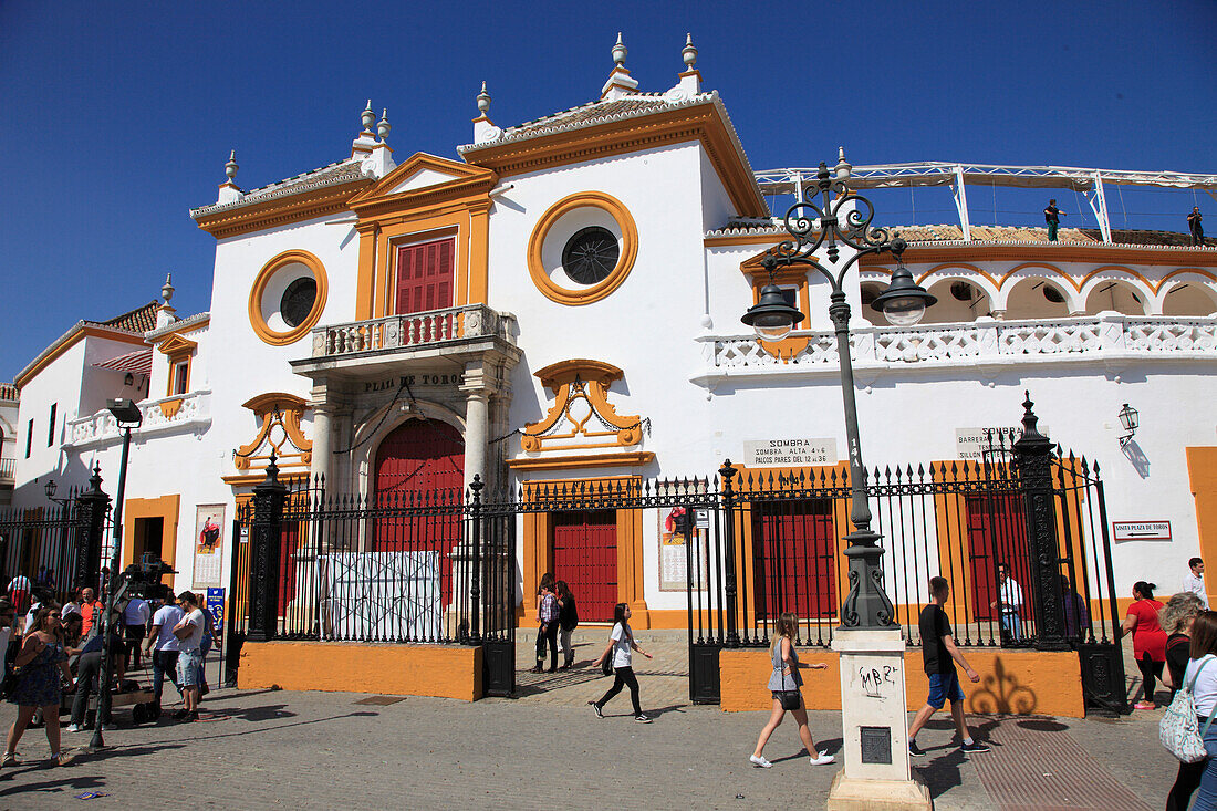
<svg viewBox="0 0 1217 811">
<path fill-rule="evenodd" d="M 368 376 L 403 362 L 469 362 L 488 353 L 518 357 L 516 319 L 484 304 L 319 326 L 312 357 L 292 362 L 305 376 Z"/>
</svg>

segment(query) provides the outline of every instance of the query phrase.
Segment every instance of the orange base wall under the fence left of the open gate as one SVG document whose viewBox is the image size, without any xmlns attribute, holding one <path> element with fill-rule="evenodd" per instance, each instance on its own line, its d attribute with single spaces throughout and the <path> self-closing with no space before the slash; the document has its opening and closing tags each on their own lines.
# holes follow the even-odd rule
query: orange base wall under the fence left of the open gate
<svg viewBox="0 0 1217 811">
<path fill-rule="evenodd" d="M 237 687 L 482 698 L 482 649 L 349 642 L 246 642 Z"/>
</svg>

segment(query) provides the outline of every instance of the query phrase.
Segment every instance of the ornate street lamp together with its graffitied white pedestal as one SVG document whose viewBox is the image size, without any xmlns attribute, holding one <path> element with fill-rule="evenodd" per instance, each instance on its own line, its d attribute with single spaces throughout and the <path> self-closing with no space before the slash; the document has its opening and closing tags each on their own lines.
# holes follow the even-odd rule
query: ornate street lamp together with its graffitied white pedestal
<svg viewBox="0 0 1217 811">
<path fill-rule="evenodd" d="M 820 163 L 815 186 L 795 201 L 783 220 L 791 239 L 770 248 L 763 261 L 769 284 L 745 315 L 763 340 L 780 340 L 803 314 L 786 303 L 773 284 L 779 267 L 814 268 L 832 286 L 829 315 L 836 330 L 841 362 L 841 396 L 845 399 L 846 441 L 849 446 L 849 520 L 845 536 L 849 561 L 849 594 L 841 605 L 841 627 L 832 637 L 841 667 L 841 728 L 845 770 L 832 781 L 829 807 L 931 809 L 929 789 L 909 768 L 907 703 L 904 695 L 904 639 L 894 621 L 892 602 L 884 592 L 884 548 L 870 528 L 867 502 L 867 469 L 858 438 L 853 362 L 849 357 L 849 304 L 842 284 L 863 256 L 890 252 L 896 257 L 891 284 L 871 304 L 896 326 L 921 320 L 936 298 L 919 287 L 901 262 L 904 240 L 871 228 L 875 209 L 848 186 L 849 164 L 845 150 L 834 172 Z M 842 248 L 851 255 L 842 258 Z M 817 253 L 826 257 L 825 262 Z M 876 675 L 882 673 L 879 677 Z"/>
</svg>

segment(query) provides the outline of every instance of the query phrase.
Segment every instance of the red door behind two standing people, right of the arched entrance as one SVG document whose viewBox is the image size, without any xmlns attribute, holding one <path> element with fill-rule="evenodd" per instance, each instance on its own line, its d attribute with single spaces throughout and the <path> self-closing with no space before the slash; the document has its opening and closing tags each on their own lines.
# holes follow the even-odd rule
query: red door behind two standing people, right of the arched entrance
<svg viewBox="0 0 1217 811">
<path fill-rule="evenodd" d="M 612 622 L 617 605 L 617 514 L 554 513 L 554 580 L 574 593 L 581 622 Z"/>
</svg>

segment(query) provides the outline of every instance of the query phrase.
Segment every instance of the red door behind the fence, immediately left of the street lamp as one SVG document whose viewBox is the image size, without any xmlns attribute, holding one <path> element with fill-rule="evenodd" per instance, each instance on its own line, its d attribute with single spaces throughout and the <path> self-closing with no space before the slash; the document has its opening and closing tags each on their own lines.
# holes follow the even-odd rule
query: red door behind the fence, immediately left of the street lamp
<svg viewBox="0 0 1217 811">
<path fill-rule="evenodd" d="M 752 566 L 758 620 L 836 616 L 832 502 L 753 504 Z"/>
</svg>

